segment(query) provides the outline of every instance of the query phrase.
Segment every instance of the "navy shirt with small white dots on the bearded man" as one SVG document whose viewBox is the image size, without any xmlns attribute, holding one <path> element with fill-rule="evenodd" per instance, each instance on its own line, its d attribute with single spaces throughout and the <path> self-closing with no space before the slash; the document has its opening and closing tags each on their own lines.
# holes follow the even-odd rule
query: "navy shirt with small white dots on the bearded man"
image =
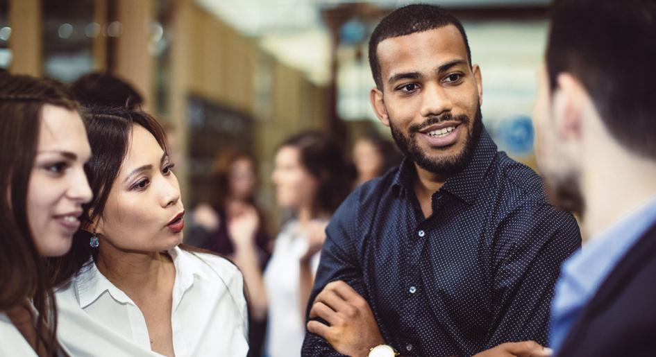
<svg viewBox="0 0 656 357">
<path fill-rule="evenodd" d="M 403 356 L 471 356 L 503 342 L 546 343 L 560 264 L 581 245 L 540 177 L 483 131 L 469 164 L 423 216 L 414 163 L 355 189 L 330 220 L 310 301 L 342 280 L 367 299 Z M 308 308 L 309 311 L 309 308 Z M 303 356 L 341 356 L 306 333 Z"/>
</svg>

